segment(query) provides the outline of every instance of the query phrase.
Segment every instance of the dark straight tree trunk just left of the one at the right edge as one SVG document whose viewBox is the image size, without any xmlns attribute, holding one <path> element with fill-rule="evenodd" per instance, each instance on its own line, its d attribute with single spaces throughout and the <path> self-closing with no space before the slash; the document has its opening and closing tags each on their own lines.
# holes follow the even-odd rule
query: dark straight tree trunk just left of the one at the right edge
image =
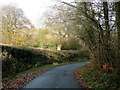
<svg viewBox="0 0 120 90">
<path fill-rule="evenodd" d="M 103 2 L 103 12 L 104 12 L 104 20 L 105 20 L 105 38 L 103 47 L 103 61 L 109 62 L 113 65 L 111 58 L 111 50 L 110 50 L 110 25 L 109 25 L 109 8 L 108 2 Z"/>
</svg>

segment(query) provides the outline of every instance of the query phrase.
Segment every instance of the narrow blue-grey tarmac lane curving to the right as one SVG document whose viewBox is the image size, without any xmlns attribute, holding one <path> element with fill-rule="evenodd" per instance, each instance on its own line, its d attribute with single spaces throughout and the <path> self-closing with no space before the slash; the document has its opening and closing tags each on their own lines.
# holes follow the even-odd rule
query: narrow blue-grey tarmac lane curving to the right
<svg viewBox="0 0 120 90">
<path fill-rule="evenodd" d="M 90 62 L 68 64 L 53 68 L 30 81 L 23 88 L 81 88 L 74 78 L 77 67 Z"/>
</svg>

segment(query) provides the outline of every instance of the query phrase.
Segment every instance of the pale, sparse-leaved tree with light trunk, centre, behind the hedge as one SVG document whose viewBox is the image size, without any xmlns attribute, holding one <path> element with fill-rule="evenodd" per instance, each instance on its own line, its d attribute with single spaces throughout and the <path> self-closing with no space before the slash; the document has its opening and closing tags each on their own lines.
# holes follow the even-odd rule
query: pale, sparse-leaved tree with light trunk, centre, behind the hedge
<svg viewBox="0 0 120 90">
<path fill-rule="evenodd" d="M 45 16 L 45 26 L 47 29 L 51 30 L 54 33 L 56 38 L 57 49 L 78 49 L 76 45 L 79 45 L 79 40 L 76 40 L 73 36 L 73 29 L 77 29 L 73 25 L 72 11 L 75 9 L 68 7 L 64 4 L 58 4 L 53 6 L 49 12 L 46 12 Z M 51 12 L 51 13 L 50 13 Z M 75 32 L 76 33 L 76 32 Z M 77 41 L 77 42 L 76 42 Z M 74 44 L 76 42 L 76 45 Z M 72 44 L 73 43 L 73 44 Z"/>
</svg>

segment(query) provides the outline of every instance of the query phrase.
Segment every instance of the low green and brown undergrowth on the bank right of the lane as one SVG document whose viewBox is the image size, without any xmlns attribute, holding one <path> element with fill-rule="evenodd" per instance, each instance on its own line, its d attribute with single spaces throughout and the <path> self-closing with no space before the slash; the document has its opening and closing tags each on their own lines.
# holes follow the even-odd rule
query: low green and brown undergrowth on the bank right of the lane
<svg viewBox="0 0 120 90">
<path fill-rule="evenodd" d="M 120 90 L 120 76 L 115 69 L 105 71 L 98 65 L 88 64 L 78 68 L 80 79 L 83 79 L 91 88 L 102 90 Z"/>
</svg>

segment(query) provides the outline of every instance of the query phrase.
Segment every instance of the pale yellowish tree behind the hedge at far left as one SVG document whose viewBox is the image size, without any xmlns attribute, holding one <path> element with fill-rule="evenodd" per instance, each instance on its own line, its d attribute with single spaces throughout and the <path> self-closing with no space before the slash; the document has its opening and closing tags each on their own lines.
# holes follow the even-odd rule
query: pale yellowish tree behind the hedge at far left
<svg viewBox="0 0 120 90">
<path fill-rule="evenodd" d="M 31 46 L 35 42 L 34 25 L 24 16 L 22 9 L 13 5 L 0 7 L 0 43 Z"/>
</svg>

